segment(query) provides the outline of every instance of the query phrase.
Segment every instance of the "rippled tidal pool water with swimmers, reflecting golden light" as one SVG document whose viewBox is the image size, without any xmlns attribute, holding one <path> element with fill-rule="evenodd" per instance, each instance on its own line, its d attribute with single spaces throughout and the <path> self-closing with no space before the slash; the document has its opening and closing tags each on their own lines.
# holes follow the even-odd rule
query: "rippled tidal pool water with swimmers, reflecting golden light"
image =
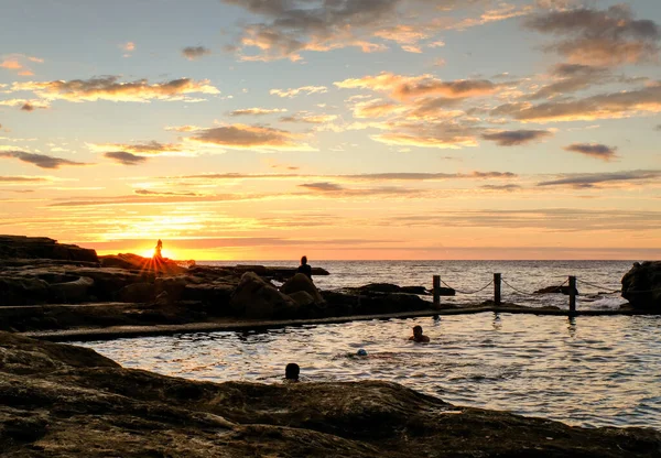
<svg viewBox="0 0 661 458">
<path fill-rule="evenodd" d="M 431 342 L 408 340 L 421 325 Z M 388 380 L 445 401 L 570 424 L 661 428 L 661 317 L 444 316 L 84 344 L 196 380 Z M 364 348 L 368 358 L 350 358 Z"/>
</svg>

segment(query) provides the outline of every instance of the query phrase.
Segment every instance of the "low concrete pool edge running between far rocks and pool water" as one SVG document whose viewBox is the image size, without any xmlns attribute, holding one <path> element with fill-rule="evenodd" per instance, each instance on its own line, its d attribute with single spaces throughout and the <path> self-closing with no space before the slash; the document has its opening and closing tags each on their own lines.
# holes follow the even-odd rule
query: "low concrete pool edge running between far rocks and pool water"
<svg viewBox="0 0 661 458">
<path fill-rule="evenodd" d="M 310 318 L 310 319 L 269 319 L 269 320 L 215 320 L 215 321 L 198 321 L 187 323 L 183 325 L 149 325 L 149 326 L 109 326 L 105 328 L 78 328 L 64 330 L 44 330 L 44 331 L 25 331 L 17 332 L 24 337 L 31 337 L 40 340 L 52 342 L 71 342 L 71 341 L 93 341 L 93 340 L 115 340 L 121 338 L 152 337 L 152 336 L 172 336 L 176 334 L 189 332 L 218 332 L 218 331 L 249 331 L 249 330 L 268 330 L 279 329 L 284 327 L 297 327 L 310 325 L 332 325 L 350 321 L 365 321 L 373 319 L 405 319 L 405 318 L 423 318 L 433 316 L 451 316 L 451 315 L 475 315 L 483 313 L 495 314 L 530 314 L 530 315 L 549 315 L 549 316 L 566 316 L 570 318 L 578 316 L 639 316 L 652 315 L 658 313 L 650 310 L 561 310 L 561 309 L 534 309 L 522 306 L 479 306 L 469 308 L 446 308 L 446 309 L 429 309 L 415 312 L 400 312 L 392 314 L 370 314 L 370 315 L 353 315 L 338 316 L 327 318 Z"/>
</svg>

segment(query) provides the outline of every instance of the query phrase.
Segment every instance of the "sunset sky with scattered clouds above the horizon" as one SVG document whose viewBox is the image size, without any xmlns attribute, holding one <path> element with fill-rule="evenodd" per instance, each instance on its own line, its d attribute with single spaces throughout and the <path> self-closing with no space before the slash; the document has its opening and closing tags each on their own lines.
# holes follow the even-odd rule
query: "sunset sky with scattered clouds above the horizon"
<svg viewBox="0 0 661 458">
<path fill-rule="evenodd" d="M 661 258 L 659 0 L 3 0 L 0 233 Z"/>
</svg>

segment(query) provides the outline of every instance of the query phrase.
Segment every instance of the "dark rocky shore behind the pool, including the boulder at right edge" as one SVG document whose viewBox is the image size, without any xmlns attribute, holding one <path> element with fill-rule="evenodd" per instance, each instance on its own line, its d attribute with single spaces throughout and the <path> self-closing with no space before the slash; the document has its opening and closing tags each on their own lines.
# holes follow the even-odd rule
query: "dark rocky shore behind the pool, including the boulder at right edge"
<svg viewBox="0 0 661 458">
<path fill-rule="evenodd" d="M 313 269 L 313 277 L 328 275 Z M 454 295 L 442 288 L 441 295 Z M 568 294 L 550 286 L 539 294 Z M 424 286 L 375 283 L 319 291 L 295 268 L 206 266 L 131 253 L 97 257 L 94 250 L 48 238 L 0 236 L 0 330 L 40 332 L 112 327 L 149 328 L 235 321 L 314 320 L 393 314 L 445 314 Z M 661 262 L 635 264 L 622 279 L 628 314 L 661 309 Z M 462 312 L 565 314 L 486 302 Z M 606 310 L 604 313 L 608 313 Z M 585 314 L 586 312 L 581 312 Z M 587 312 L 589 313 L 589 312 Z M 602 312 L 599 312 L 602 313 Z M 120 334 L 120 332 L 118 332 Z"/>
</svg>

